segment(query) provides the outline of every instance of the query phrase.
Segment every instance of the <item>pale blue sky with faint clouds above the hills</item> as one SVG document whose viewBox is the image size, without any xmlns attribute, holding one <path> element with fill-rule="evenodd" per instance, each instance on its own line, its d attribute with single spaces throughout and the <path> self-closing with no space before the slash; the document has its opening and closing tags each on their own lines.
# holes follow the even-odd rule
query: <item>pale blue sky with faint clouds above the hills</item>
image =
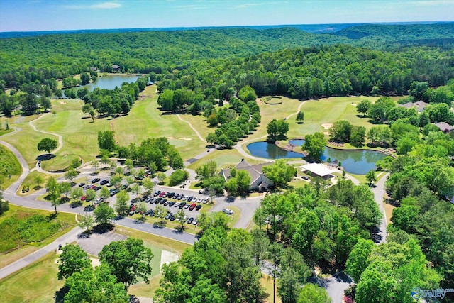
<svg viewBox="0 0 454 303">
<path fill-rule="evenodd" d="M 0 31 L 454 21 L 454 0 L 0 0 Z"/>
</svg>

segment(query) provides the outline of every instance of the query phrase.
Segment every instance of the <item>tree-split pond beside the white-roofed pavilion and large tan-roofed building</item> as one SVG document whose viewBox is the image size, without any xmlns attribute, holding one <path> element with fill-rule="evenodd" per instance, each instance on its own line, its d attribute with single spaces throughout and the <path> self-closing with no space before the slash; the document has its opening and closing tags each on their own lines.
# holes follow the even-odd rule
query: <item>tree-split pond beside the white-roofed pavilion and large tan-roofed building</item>
<svg viewBox="0 0 454 303">
<path fill-rule="evenodd" d="M 304 140 L 291 140 L 297 146 L 304 144 Z M 267 159 L 282 159 L 282 158 L 301 158 L 301 153 L 287 152 L 275 144 L 267 142 L 250 143 L 247 146 L 251 155 Z M 326 161 L 331 158 L 331 161 L 338 160 L 342 162 L 342 167 L 346 172 L 356 175 L 365 175 L 369 170 L 375 169 L 375 163 L 378 160 L 388 157 L 383 153 L 375 150 L 338 150 L 335 148 L 326 147 L 321 160 Z"/>
</svg>

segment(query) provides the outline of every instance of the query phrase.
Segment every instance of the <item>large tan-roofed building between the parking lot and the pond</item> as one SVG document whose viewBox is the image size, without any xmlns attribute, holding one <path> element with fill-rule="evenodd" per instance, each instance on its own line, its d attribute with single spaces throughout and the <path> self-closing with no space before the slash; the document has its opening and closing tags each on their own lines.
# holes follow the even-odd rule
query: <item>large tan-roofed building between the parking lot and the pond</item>
<svg viewBox="0 0 454 303">
<path fill-rule="evenodd" d="M 262 172 L 262 168 L 272 164 L 272 162 L 264 162 L 256 165 L 250 165 L 246 160 L 241 159 L 241 161 L 235 167 L 228 167 L 225 170 L 221 170 L 219 174 L 221 177 L 228 181 L 231 178 L 231 170 L 235 168 L 236 170 L 245 170 L 249 172 L 250 175 L 250 183 L 249 183 L 249 190 L 251 192 L 258 191 L 258 192 L 265 192 L 270 187 L 273 187 L 275 184 L 267 176 Z"/>
</svg>

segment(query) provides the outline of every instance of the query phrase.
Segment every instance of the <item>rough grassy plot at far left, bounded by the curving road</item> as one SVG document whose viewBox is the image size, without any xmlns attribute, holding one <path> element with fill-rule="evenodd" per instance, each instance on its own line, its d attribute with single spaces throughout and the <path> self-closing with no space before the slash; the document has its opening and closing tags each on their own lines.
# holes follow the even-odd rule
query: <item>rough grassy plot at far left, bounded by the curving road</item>
<svg viewBox="0 0 454 303">
<path fill-rule="evenodd" d="M 52 211 L 31 210 L 10 204 L 9 211 L 0 216 L 2 231 L 0 234 L 2 252 L 0 267 L 38 250 L 76 225 L 74 214 L 60 212 L 57 214 L 57 219 L 50 221 L 32 220 L 36 214 L 48 217 L 53 213 Z M 60 228 L 51 228 L 51 225 L 57 221 L 61 223 Z M 26 233 L 17 231 L 17 228 L 21 226 L 23 229 L 23 224 L 26 224 Z M 10 252 L 6 253 L 7 251 Z"/>
</svg>

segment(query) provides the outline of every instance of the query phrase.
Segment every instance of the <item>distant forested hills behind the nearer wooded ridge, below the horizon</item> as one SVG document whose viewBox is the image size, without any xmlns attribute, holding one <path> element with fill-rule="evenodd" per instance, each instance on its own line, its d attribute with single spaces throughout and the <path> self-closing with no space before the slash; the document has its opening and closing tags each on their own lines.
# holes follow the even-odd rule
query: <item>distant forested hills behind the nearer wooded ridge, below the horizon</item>
<svg viewBox="0 0 454 303">
<path fill-rule="evenodd" d="M 454 23 L 441 23 L 357 26 L 336 34 L 312 34 L 297 28 L 224 28 L 5 38 L 0 39 L 0 79 L 6 87 L 19 87 L 35 80 L 44 83 L 52 78 L 88 72 L 89 67 L 111 72 L 114 64 L 120 65 L 122 72 L 161 73 L 198 60 L 244 57 L 311 45 L 343 43 L 373 49 L 437 46 L 445 45 L 453 31 Z"/>
</svg>

